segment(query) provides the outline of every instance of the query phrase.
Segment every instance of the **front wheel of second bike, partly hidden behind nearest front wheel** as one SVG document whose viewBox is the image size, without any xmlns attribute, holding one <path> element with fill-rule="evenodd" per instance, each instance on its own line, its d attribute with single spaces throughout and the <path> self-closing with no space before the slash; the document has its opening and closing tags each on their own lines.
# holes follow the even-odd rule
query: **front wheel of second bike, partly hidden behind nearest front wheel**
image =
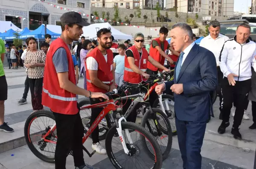
<svg viewBox="0 0 256 169">
<path fill-rule="evenodd" d="M 141 120 L 141 126 L 148 130 L 155 137 L 155 140 L 160 146 L 163 160 L 165 160 L 166 158 L 168 158 L 168 155 L 172 149 L 171 124 L 162 110 L 152 108 L 152 111 L 153 113 L 151 112 L 151 110 L 148 110 L 143 115 L 143 118 Z M 151 155 L 152 158 L 154 158 L 154 152 L 152 152 L 150 149 L 147 149 L 148 144 L 146 143 L 145 139 L 143 140 L 143 144 L 145 146 L 145 149 L 148 151 L 148 154 Z"/>
</svg>

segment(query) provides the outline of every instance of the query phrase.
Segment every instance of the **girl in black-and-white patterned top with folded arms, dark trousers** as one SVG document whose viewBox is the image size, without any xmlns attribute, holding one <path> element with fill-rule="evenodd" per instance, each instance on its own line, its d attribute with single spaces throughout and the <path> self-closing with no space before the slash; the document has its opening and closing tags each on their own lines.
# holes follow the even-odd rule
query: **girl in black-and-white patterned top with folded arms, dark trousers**
<svg viewBox="0 0 256 169">
<path fill-rule="evenodd" d="M 37 49 L 37 42 L 34 37 L 27 38 L 26 44 L 30 50 L 26 53 L 25 66 L 28 68 L 29 89 L 33 112 L 35 112 L 44 108 L 42 105 L 42 88 L 46 55 L 44 51 Z"/>
</svg>

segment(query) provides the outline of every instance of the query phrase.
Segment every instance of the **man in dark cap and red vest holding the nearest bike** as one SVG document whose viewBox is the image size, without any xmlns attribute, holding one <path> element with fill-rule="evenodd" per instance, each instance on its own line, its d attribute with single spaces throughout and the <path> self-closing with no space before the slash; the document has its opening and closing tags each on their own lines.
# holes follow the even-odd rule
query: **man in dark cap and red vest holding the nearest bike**
<svg viewBox="0 0 256 169">
<path fill-rule="evenodd" d="M 58 140 L 55 149 L 55 169 L 66 169 L 67 154 L 72 150 L 76 169 L 87 169 L 84 163 L 82 138 L 84 126 L 77 106 L 77 95 L 108 99 L 76 85 L 75 68 L 68 45 L 78 41 L 83 26 L 90 25 L 79 13 L 70 11 L 61 16 L 61 37 L 54 40 L 47 53 L 44 68 L 42 104 L 55 117 Z"/>
</svg>

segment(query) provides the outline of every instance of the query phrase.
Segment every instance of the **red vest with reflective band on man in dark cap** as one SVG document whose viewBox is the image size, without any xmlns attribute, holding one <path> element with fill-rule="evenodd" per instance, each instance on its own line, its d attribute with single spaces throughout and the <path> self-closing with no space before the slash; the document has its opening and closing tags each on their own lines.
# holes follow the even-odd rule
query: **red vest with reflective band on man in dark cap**
<svg viewBox="0 0 256 169">
<path fill-rule="evenodd" d="M 78 113 L 76 94 L 70 93 L 60 87 L 55 66 L 52 62 L 52 56 L 58 48 L 64 48 L 67 52 L 68 79 L 76 85 L 75 68 L 70 49 L 61 38 L 58 38 L 51 43 L 47 52 L 44 68 L 42 104 L 49 107 L 55 113 L 74 115 Z"/>
</svg>

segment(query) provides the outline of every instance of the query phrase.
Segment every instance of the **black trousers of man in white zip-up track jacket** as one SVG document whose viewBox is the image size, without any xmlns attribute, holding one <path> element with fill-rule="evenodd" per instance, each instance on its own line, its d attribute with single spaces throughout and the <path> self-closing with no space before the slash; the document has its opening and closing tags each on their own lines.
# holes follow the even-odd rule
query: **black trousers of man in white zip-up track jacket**
<svg viewBox="0 0 256 169">
<path fill-rule="evenodd" d="M 233 106 L 233 102 L 236 102 L 236 113 L 234 116 L 233 127 L 238 128 L 241 124 L 244 115 L 244 100 L 248 95 L 251 87 L 251 79 L 244 81 L 236 81 L 236 85 L 229 85 L 227 77 L 224 77 L 222 84 L 222 119 L 224 122 L 228 122 L 230 118 L 230 110 Z"/>
</svg>

